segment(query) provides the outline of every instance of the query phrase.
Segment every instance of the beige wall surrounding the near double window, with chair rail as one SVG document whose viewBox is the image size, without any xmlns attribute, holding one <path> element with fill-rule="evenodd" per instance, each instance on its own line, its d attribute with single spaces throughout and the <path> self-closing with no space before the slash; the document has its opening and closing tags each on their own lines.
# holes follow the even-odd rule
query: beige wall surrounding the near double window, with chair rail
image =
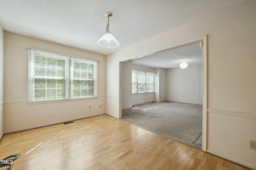
<svg viewBox="0 0 256 170">
<path fill-rule="evenodd" d="M 98 98 L 29 104 L 28 51 L 25 47 L 100 61 L 98 63 Z M 103 103 L 101 108 L 99 102 Z M 105 55 L 4 31 L 5 133 L 103 113 L 106 113 Z"/>
</svg>

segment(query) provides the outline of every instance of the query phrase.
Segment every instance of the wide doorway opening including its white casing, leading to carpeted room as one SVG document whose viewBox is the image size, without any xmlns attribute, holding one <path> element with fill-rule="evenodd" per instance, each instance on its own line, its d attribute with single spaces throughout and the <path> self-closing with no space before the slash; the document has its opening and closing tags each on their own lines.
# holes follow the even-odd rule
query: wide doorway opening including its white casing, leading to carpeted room
<svg viewBox="0 0 256 170">
<path fill-rule="evenodd" d="M 201 46 L 201 49 L 193 49 L 196 46 L 198 48 Z M 193 56 L 196 55 L 196 53 L 198 54 L 198 51 L 200 57 Z M 191 55 L 188 55 L 189 53 Z M 174 57 L 168 58 L 168 55 Z M 164 61 L 164 64 L 158 66 L 150 66 L 150 64 L 148 64 L 151 62 L 156 65 L 156 60 L 162 60 Z M 177 64 L 179 65 L 179 63 L 184 60 L 187 61 L 188 68 L 178 68 Z M 167 67 L 166 65 L 169 66 Z M 155 90 L 153 93 L 132 94 L 132 70 L 135 69 L 144 72 L 152 72 L 152 69 L 154 70 L 156 76 L 154 78 Z M 145 129 L 155 131 L 156 133 L 160 133 L 158 132 L 159 129 L 168 132 L 168 127 L 172 127 L 175 122 L 178 122 L 181 124 L 180 126 L 185 129 L 183 129 L 182 132 L 190 135 L 186 137 L 183 137 L 182 135 L 180 137 L 171 137 L 166 135 L 167 133 L 160 134 L 182 143 L 186 143 L 183 139 L 192 137 L 192 144 L 186 144 L 200 148 L 204 151 L 206 150 L 206 36 L 124 59 L 120 61 L 120 77 L 122 78 L 122 80 L 120 80 L 120 82 L 122 81 L 122 83 L 120 83 L 120 99 L 122 99 L 120 100 L 120 106 L 122 108 L 120 114 L 123 116 L 123 119 L 128 121 L 128 114 L 132 114 L 132 112 L 135 111 L 141 112 L 141 114 L 135 115 L 134 120 L 136 120 L 137 123 L 142 123 L 137 125 L 141 127 L 144 126 Z M 183 81 L 182 79 L 186 80 Z M 128 83 L 129 81 L 130 83 Z M 195 86 L 195 82 L 197 83 L 197 86 Z M 184 111 L 180 108 L 180 111 L 178 111 L 178 107 L 183 108 Z M 129 110 L 130 113 L 127 113 Z M 195 111 L 195 114 L 192 113 L 193 111 Z M 198 116 L 198 113 L 200 116 Z M 167 117 L 164 117 L 161 114 L 166 115 Z M 184 114 L 186 114 L 186 116 Z M 146 117 L 138 118 L 138 116 L 143 115 L 151 116 L 149 118 L 150 121 L 146 121 Z M 156 119 L 160 117 L 163 118 L 162 121 Z M 177 117 L 180 119 L 175 121 L 176 119 L 174 118 Z M 144 124 L 140 119 L 144 120 Z M 136 121 L 132 122 L 130 119 L 130 122 L 135 125 Z M 161 128 L 160 125 L 162 125 Z M 190 125 L 194 125 L 197 132 L 194 131 L 194 133 L 191 133 L 186 131 L 186 129 L 193 129 Z M 156 129 L 150 129 L 152 127 L 156 127 Z M 174 131 L 176 134 L 180 133 L 174 128 L 171 129 L 172 132 Z"/>
</svg>

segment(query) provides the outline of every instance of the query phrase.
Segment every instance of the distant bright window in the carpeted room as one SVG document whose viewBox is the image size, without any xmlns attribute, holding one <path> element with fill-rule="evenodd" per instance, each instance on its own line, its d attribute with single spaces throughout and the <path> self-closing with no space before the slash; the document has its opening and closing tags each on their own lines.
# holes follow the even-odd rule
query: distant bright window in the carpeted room
<svg viewBox="0 0 256 170">
<path fill-rule="evenodd" d="M 154 72 L 132 70 L 132 93 L 154 92 Z"/>
</svg>

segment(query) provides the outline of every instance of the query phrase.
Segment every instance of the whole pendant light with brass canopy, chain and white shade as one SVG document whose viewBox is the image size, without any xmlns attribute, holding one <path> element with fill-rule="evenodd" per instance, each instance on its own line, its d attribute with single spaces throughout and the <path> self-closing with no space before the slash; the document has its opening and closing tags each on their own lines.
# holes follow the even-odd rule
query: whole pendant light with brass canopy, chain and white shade
<svg viewBox="0 0 256 170">
<path fill-rule="evenodd" d="M 116 48 L 119 46 L 118 41 L 116 38 L 109 32 L 109 18 L 112 16 L 110 12 L 106 13 L 108 17 L 108 23 L 106 27 L 106 33 L 98 40 L 98 45 L 105 48 Z"/>
</svg>

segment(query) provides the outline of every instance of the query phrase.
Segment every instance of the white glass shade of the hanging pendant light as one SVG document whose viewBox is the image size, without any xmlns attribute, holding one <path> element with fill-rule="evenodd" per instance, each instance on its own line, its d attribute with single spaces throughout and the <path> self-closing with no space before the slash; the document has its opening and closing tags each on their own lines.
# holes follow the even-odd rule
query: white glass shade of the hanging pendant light
<svg viewBox="0 0 256 170">
<path fill-rule="evenodd" d="M 119 46 L 118 41 L 116 38 L 110 33 L 105 33 L 99 40 L 98 45 L 105 48 L 116 48 Z"/>
</svg>

